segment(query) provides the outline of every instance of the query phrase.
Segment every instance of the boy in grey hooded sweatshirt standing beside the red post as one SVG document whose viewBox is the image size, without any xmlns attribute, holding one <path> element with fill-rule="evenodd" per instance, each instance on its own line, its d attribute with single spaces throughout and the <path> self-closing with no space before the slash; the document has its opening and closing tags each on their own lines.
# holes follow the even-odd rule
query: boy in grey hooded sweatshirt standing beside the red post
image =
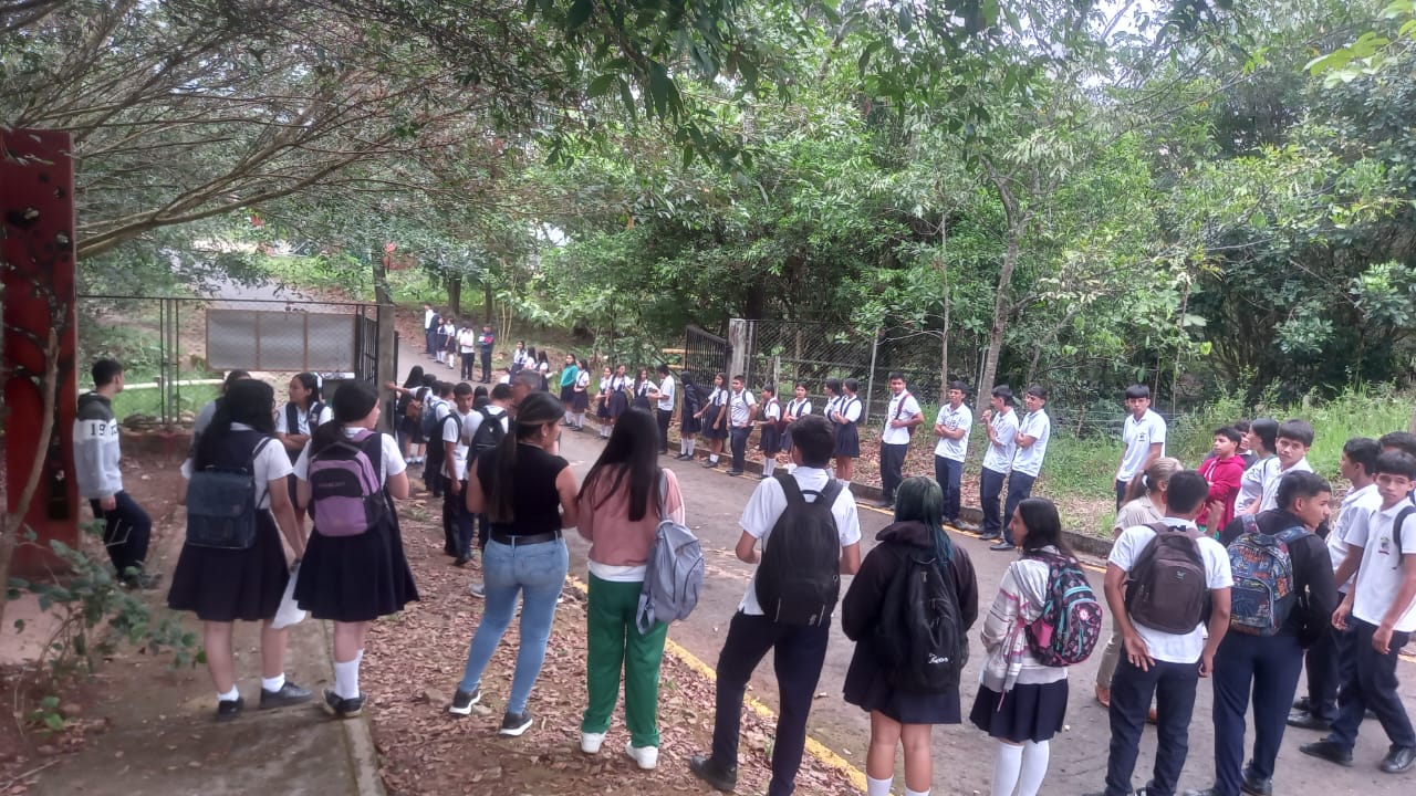
<svg viewBox="0 0 1416 796">
<path fill-rule="evenodd" d="M 152 589 L 161 581 L 161 575 L 143 571 L 153 521 L 123 491 L 119 466 L 123 450 L 113 397 L 126 384 L 123 365 L 118 360 L 98 360 L 91 373 L 93 391 L 79 395 L 74 415 L 74 476 L 79 482 L 79 497 L 86 497 L 93 517 L 103 520 L 103 548 L 119 581 L 129 588 Z"/>
</svg>

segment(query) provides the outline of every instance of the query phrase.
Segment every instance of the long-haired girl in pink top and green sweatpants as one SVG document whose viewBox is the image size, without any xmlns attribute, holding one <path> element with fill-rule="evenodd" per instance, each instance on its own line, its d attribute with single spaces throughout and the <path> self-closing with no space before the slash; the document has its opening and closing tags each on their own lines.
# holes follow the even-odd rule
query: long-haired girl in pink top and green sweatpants
<svg viewBox="0 0 1416 796">
<path fill-rule="evenodd" d="M 624 412 L 576 497 L 578 531 L 590 542 L 581 751 L 600 751 L 623 671 L 630 732 L 624 754 L 641 769 L 658 763 L 658 667 L 668 623 L 656 622 L 641 633 L 636 625 L 639 595 L 660 518 L 684 523 L 678 479 L 657 462 L 654 419 L 639 409 Z"/>
</svg>

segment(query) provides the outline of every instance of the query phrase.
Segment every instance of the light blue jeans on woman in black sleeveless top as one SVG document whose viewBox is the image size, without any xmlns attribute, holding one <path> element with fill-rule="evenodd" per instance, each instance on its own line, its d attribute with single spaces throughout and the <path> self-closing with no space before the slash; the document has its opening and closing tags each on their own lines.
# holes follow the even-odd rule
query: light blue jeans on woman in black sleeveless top
<svg viewBox="0 0 1416 796">
<path fill-rule="evenodd" d="M 501 636 L 511 625 L 517 610 L 517 596 L 521 606 L 521 647 L 517 650 L 517 671 L 511 677 L 511 694 L 507 697 L 507 712 L 524 712 L 531 698 L 531 687 L 545 663 L 545 643 L 551 637 L 551 623 L 555 620 L 555 601 L 565 586 L 565 574 L 571 569 L 571 554 L 565 540 L 541 544 L 510 545 L 489 540 L 481 554 L 483 585 L 486 586 L 487 609 L 481 615 L 477 632 L 467 649 L 467 669 L 457 688 L 476 691 L 481 684 L 491 654 L 497 652 Z"/>
</svg>

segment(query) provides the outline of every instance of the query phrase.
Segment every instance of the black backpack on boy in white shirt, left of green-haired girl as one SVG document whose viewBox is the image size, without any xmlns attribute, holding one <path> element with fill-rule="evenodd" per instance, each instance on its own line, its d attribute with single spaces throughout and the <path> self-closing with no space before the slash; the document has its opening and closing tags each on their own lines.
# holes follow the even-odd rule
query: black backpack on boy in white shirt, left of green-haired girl
<svg viewBox="0 0 1416 796">
<path fill-rule="evenodd" d="M 777 474 L 787 507 L 772 525 L 758 565 L 756 592 L 762 613 L 783 625 L 820 626 L 831 622 L 841 595 L 841 535 L 831 506 L 841 483 L 831 479 L 807 503 L 796 479 Z"/>
</svg>

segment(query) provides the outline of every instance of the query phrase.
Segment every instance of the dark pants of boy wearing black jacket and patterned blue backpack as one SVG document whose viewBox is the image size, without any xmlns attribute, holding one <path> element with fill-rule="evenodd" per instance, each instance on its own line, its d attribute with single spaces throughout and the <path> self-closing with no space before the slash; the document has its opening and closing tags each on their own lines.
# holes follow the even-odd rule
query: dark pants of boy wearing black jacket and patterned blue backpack
<svg viewBox="0 0 1416 796">
<path fill-rule="evenodd" d="M 1253 691 L 1252 778 L 1273 778 L 1283 731 L 1289 727 L 1289 708 L 1298 690 L 1303 671 L 1303 647 L 1290 635 L 1267 639 L 1245 633 L 1225 633 L 1215 653 L 1215 793 L 1239 796 L 1243 783 L 1245 714 Z"/>
</svg>

